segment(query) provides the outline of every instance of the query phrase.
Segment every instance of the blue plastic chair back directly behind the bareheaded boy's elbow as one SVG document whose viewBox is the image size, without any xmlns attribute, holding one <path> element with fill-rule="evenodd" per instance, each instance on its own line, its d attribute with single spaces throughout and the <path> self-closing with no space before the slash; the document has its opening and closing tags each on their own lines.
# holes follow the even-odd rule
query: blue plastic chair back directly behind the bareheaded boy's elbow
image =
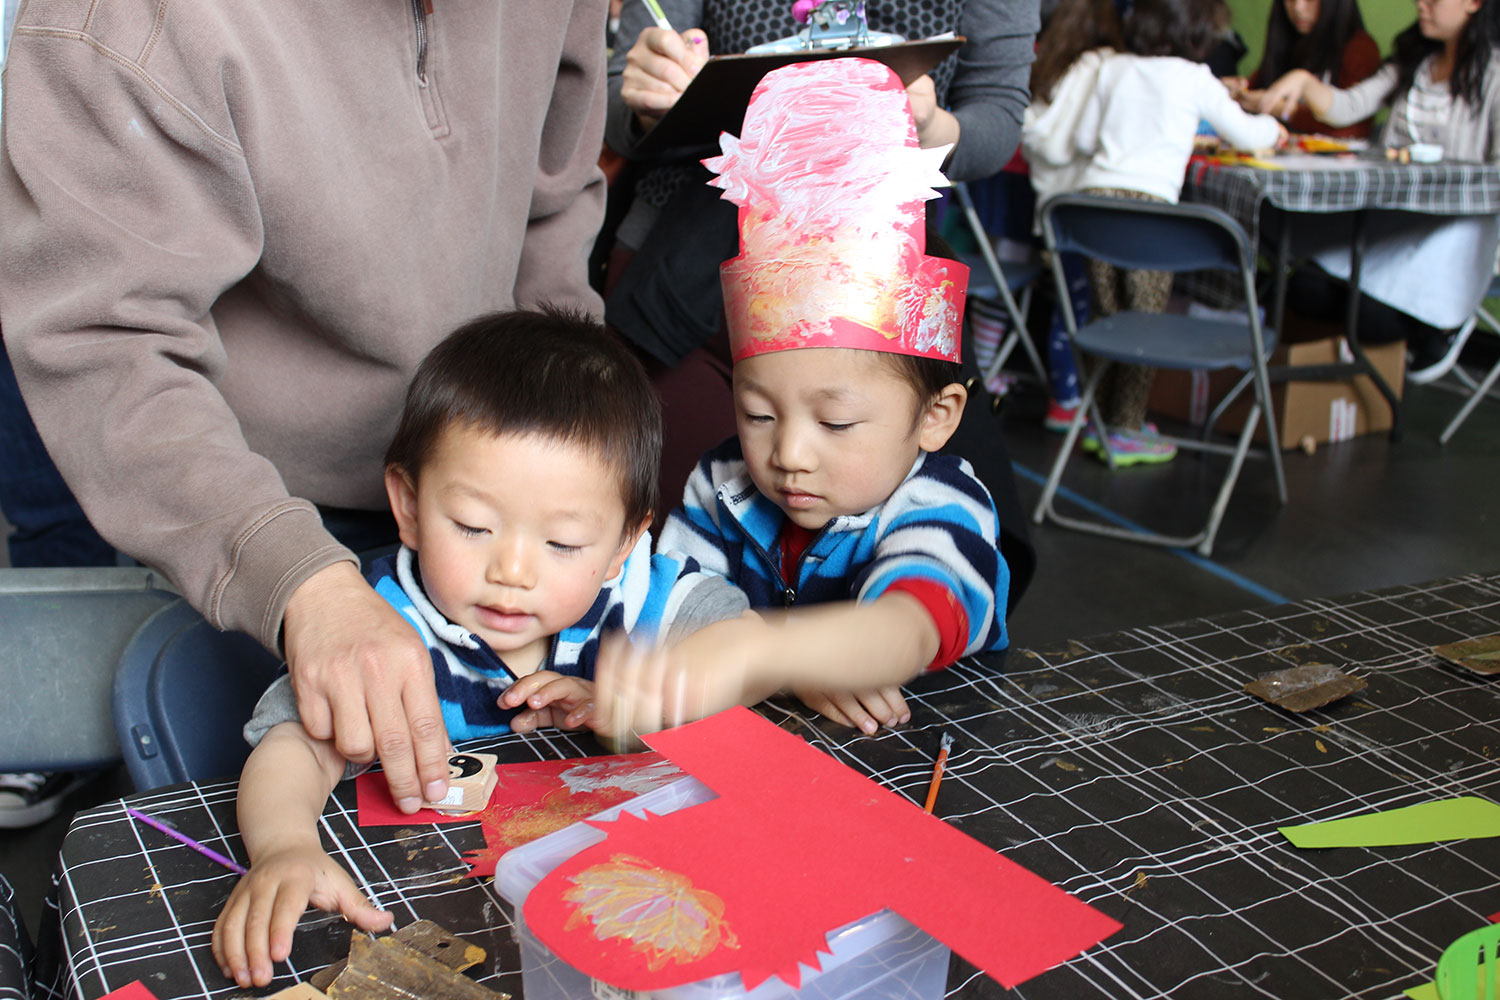
<svg viewBox="0 0 1500 1000">
<path fill-rule="evenodd" d="M 280 660 L 243 633 L 224 633 L 186 601 L 136 630 L 114 676 L 114 726 L 138 792 L 240 774 L 240 730 Z"/>
</svg>

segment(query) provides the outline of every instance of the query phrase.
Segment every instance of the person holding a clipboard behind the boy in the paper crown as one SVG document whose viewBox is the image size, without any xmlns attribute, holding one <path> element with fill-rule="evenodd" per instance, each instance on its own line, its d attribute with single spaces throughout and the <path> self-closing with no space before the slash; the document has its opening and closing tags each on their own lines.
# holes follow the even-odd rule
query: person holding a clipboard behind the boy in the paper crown
<svg viewBox="0 0 1500 1000">
<path fill-rule="evenodd" d="M 660 19 L 642 0 L 627 0 L 621 42 L 609 63 L 604 141 L 630 159 L 712 55 L 744 52 L 800 27 L 789 0 L 657 0 L 652 6 Z M 870 0 L 866 12 L 872 31 L 910 40 L 950 31 L 964 37 L 956 54 L 908 85 L 912 115 L 924 147 L 954 144 L 944 166 L 950 180 L 998 172 L 1020 142 L 1030 99 L 1038 1 Z M 634 345 L 662 393 L 666 505 L 681 496 L 698 457 L 735 432 L 718 265 L 738 252 L 736 216 L 705 181 L 696 159 L 636 163 L 604 285 L 606 322 Z M 1014 606 L 1035 555 L 1018 499 L 1014 511 L 1006 510 L 1014 477 L 988 406 L 972 405 L 969 412 L 968 427 L 948 450 L 975 465 L 1000 508 L 1014 546 L 1005 552 Z"/>
</svg>

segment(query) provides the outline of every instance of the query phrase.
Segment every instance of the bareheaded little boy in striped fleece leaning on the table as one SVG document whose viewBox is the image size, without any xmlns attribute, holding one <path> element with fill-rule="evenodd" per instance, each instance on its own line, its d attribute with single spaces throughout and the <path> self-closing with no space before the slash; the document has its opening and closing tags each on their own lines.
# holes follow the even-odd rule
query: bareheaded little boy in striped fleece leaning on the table
<svg viewBox="0 0 1500 1000">
<path fill-rule="evenodd" d="M 606 630 L 672 640 L 746 610 L 692 559 L 651 555 L 660 448 L 639 361 L 582 315 L 483 316 L 420 364 L 386 466 L 402 547 L 368 579 L 430 651 L 448 739 L 582 726 Z M 390 915 L 320 844 L 328 793 L 357 768 L 308 733 L 288 678 L 244 735 L 250 870 L 213 954 L 225 976 L 262 987 L 309 903 L 372 931 Z"/>
</svg>

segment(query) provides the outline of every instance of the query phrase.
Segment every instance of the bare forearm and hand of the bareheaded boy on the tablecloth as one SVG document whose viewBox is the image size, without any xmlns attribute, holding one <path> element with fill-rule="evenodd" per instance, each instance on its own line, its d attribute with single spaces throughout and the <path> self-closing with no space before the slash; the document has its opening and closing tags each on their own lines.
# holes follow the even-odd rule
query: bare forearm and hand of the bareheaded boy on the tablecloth
<svg viewBox="0 0 1500 1000">
<path fill-rule="evenodd" d="M 308 904 L 366 931 L 390 927 L 318 840 L 318 816 L 344 774 L 332 741 L 300 723 L 282 723 L 261 739 L 240 775 L 240 835 L 250 856 L 213 925 L 213 958 L 242 987 L 264 987 L 273 963 L 291 954 L 291 936 Z"/>
</svg>

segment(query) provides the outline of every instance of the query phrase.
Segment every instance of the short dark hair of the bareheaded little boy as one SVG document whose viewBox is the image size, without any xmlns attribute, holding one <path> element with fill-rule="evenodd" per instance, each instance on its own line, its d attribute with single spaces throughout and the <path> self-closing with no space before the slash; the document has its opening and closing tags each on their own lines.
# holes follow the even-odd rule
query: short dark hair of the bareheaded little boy
<svg viewBox="0 0 1500 1000">
<path fill-rule="evenodd" d="M 444 337 L 411 379 L 386 465 L 418 481 L 453 424 L 592 448 L 620 471 L 627 531 L 656 508 L 662 405 L 636 355 L 584 313 L 498 312 Z"/>
</svg>

